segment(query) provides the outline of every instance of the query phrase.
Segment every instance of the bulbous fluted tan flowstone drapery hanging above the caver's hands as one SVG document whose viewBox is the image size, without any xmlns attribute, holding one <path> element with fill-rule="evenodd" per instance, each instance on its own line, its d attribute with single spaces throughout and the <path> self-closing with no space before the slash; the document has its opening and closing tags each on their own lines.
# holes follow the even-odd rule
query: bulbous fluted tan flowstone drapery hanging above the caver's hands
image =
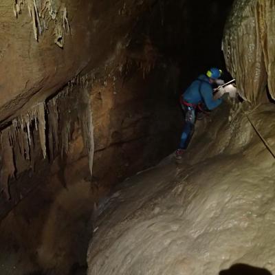
<svg viewBox="0 0 275 275">
<path fill-rule="evenodd" d="M 225 62 L 248 102 L 262 102 L 267 89 L 275 99 L 274 16 L 272 0 L 236 0 L 225 25 Z"/>
</svg>

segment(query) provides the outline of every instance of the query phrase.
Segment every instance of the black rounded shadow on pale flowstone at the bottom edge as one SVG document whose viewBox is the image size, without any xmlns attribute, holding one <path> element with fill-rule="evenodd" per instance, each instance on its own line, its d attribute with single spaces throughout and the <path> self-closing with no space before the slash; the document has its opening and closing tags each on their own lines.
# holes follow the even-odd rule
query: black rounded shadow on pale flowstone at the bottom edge
<svg viewBox="0 0 275 275">
<path fill-rule="evenodd" d="M 232 265 L 229 270 L 221 270 L 219 275 L 272 275 L 272 273 L 264 268 L 237 263 Z"/>
</svg>

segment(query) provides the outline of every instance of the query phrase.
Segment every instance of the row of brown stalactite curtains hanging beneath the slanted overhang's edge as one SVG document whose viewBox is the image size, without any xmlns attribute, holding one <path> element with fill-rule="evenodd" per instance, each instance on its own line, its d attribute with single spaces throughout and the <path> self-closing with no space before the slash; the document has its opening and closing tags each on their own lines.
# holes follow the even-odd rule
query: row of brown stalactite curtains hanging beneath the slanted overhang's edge
<svg viewBox="0 0 275 275">
<path fill-rule="evenodd" d="M 89 155 L 92 173 L 94 126 L 88 88 L 91 89 L 91 82 L 87 76 L 78 76 L 56 96 L 14 118 L 12 124 L 0 132 L 0 191 L 4 191 L 6 198 L 10 199 L 10 179 L 25 169 L 34 170 L 40 155 L 34 148 L 40 147 L 43 157 L 48 157 L 50 161 L 58 154 L 67 154 L 75 122 L 80 122 L 82 126 L 85 152 Z"/>
</svg>

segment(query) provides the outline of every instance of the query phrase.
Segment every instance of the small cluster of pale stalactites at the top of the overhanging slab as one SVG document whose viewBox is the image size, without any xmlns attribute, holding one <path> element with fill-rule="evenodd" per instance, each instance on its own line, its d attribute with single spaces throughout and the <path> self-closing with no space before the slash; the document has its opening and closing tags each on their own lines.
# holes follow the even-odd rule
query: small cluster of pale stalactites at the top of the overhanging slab
<svg viewBox="0 0 275 275">
<path fill-rule="evenodd" d="M 32 17 L 35 40 L 39 41 L 39 36 L 49 28 L 48 22 L 53 21 L 55 25 L 54 43 L 59 47 L 63 47 L 64 34 L 70 32 L 67 8 L 65 5 L 59 3 L 59 0 L 15 0 L 13 12 L 16 18 L 22 13 L 22 7 L 24 5 L 28 6 L 30 17 Z"/>
</svg>

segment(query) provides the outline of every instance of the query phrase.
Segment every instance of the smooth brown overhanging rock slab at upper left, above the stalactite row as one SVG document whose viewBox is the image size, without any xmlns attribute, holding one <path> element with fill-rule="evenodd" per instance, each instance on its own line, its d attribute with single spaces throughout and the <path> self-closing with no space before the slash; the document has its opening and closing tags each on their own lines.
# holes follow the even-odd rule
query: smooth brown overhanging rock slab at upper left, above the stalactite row
<svg viewBox="0 0 275 275">
<path fill-rule="evenodd" d="M 43 102 L 83 69 L 102 64 L 147 8 L 133 0 L 24 2 L 3 0 L 0 5 L 1 124 Z M 42 29 L 46 22 L 41 35 L 34 17 L 41 19 Z"/>
</svg>

